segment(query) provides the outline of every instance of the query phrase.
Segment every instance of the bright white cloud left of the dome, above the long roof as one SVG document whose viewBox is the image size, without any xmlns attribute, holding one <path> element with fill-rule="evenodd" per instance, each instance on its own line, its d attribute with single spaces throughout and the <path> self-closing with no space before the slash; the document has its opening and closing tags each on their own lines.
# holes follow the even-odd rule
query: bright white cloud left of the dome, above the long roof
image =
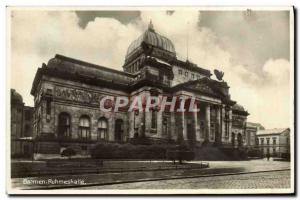
<svg viewBox="0 0 300 200">
<path fill-rule="evenodd" d="M 122 69 L 126 49 L 141 32 L 133 24 L 96 18 L 82 29 L 74 12 L 13 11 L 11 20 L 11 87 L 27 105 L 35 72 L 55 54 Z"/>
</svg>

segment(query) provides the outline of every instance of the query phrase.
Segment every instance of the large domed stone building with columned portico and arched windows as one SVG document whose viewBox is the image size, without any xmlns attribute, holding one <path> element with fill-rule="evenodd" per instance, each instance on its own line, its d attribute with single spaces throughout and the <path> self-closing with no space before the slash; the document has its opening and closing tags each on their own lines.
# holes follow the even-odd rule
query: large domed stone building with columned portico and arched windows
<svg viewBox="0 0 300 200">
<path fill-rule="evenodd" d="M 223 74 L 179 60 L 172 41 L 148 29 L 128 47 L 123 71 L 56 55 L 37 70 L 34 137 L 38 153 L 67 146 L 83 152 L 101 141 L 186 142 L 234 146 L 242 143 L 247 111 L 230 98 Z M 199 112 L 102 112 L 105 96 L 194 97 Z M 238 141 L 238 142 L 237 142 Z"/>
</svg>

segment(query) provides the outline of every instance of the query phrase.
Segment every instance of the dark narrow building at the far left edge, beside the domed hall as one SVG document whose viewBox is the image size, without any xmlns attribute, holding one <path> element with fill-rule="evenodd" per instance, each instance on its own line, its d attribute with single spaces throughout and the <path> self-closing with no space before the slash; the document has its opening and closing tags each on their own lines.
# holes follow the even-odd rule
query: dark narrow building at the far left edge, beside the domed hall
<svg viewBox="0 0 300 200">
<path fill-rule="evenodd" d="M 11 155 L 24 157 L 32 154 L 34 108 L 25 106 L 22 96 L 11 89 Z"/>
</svg>

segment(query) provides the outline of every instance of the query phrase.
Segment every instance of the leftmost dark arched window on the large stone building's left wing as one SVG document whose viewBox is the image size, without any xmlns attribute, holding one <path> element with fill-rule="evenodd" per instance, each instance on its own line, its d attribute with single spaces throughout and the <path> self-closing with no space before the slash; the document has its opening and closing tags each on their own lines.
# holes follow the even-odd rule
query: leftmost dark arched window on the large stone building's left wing
<svg viewBox="0 0 300 200">
<path fill-rule="evenodd" d="M 68 138 L 71 137 L 71 117 L 68 113 L 60 113 L 58 116 L 58 137 Z"/>
</svg>

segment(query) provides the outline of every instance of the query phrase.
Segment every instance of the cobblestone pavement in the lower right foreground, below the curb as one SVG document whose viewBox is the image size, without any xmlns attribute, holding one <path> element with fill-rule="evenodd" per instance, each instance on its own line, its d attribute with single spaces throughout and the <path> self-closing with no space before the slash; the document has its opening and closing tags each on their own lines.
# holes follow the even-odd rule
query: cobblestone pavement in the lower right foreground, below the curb
<svg viewBox="0 0 300 200">
<path fill-rule="evenodd" d="M 80 189 L 264 189 L 290 188 L 290 170 L 241 175 L 149 181 Z"/>
</svg>

